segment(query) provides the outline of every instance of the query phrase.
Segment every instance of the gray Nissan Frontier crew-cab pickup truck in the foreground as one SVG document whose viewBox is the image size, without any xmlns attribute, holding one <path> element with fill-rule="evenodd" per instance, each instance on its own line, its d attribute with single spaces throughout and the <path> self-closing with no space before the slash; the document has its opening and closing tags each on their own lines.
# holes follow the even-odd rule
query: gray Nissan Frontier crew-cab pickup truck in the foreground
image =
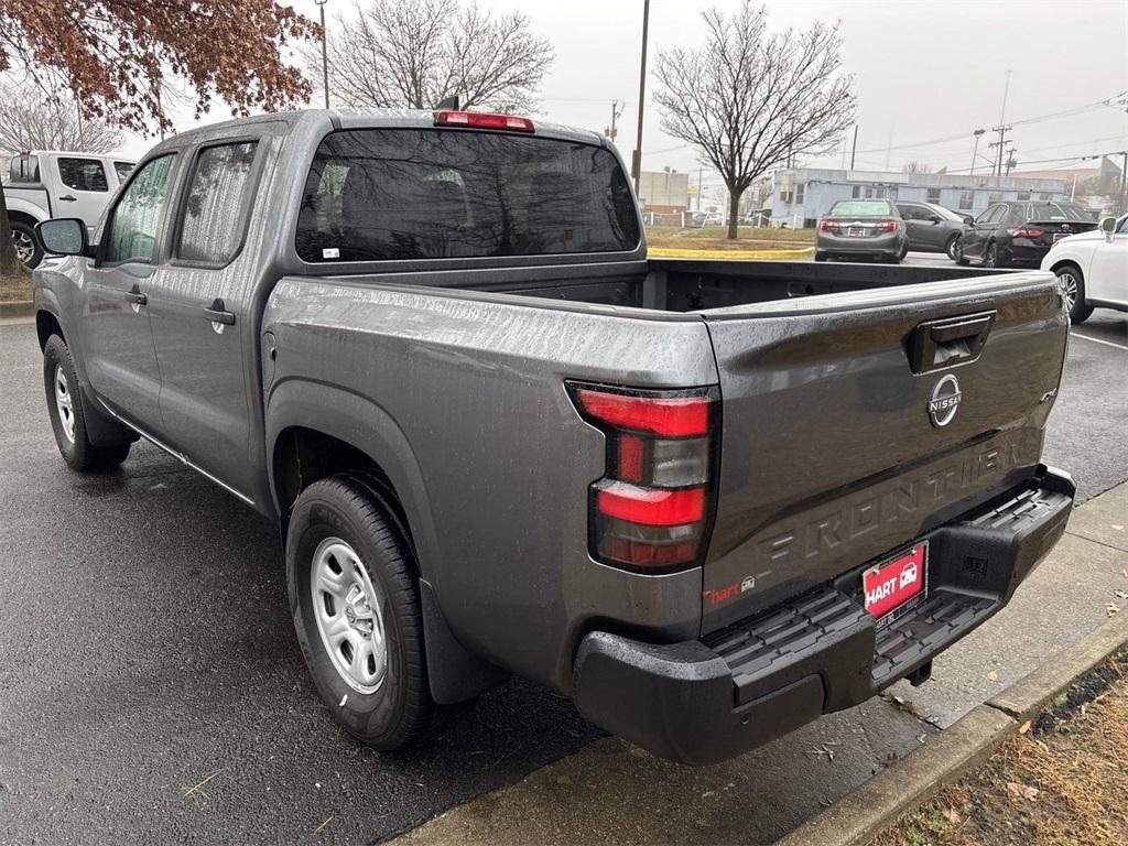
<svg viewBox="0 0 1128 846">
<path fill-rule="evenodd" d="M 590 132 L 240 120 L 37 235 L 63 458 L 143 437 L 277 520 L 317 690 L 378 749 L 517 673 L 731 757 L 927 679 L 1068 519 L 1052 274 L 647 258 Z"/>
</svg>

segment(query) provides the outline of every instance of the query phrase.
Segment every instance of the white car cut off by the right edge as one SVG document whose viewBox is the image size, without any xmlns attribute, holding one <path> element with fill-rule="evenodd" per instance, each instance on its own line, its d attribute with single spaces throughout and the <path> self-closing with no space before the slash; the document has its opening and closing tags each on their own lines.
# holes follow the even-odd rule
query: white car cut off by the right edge
<svg viewBox="0 0 1128 846">
<path fill-rule="evenodd" d="M 1128 311 L 1128 214 L 1055 241 L 1042 270 L 1057 274 L 1074 323 L 1084 323 L 1094 308 Z"/>
</svg>

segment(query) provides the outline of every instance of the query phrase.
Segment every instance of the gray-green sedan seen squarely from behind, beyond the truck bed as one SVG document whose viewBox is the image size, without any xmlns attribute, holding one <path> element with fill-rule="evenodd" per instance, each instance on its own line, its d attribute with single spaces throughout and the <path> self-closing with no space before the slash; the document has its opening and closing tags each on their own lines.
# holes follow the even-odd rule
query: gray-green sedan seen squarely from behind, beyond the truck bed
<svg viewBox="0 0 1128 846">
<path fill-rule="evenodd" d="M 905 221 L 889 200 L 839 200 L 814 235 L 816 262 L 861 256 L 899 264 L 908 252 Z"/>
</svg>

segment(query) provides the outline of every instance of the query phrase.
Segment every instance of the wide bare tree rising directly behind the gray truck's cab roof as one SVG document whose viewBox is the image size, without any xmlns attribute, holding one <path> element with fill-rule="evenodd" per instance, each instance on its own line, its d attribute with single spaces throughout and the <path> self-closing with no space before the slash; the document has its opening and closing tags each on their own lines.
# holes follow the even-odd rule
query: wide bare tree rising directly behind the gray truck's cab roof
<svg viewBox="0 0 1128 846">
<path fill-rule="evenodd" d="M 520 12 L 493 16 L 459 0 L 370 0 L 328 27 L 329 88 L 345 106 L 529 109 L 553 49 Z M 307 52 L 310 77 L 320 53 Z"/>
</svg>

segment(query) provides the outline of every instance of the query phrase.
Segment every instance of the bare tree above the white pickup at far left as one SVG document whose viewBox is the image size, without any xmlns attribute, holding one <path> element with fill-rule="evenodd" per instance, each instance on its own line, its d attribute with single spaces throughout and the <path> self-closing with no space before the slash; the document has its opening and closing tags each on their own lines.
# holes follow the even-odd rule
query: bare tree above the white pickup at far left
<svg viewBox="0 0 1128 846">
<path fill-rule="evenodd" d="M 121 130 L 97 118 L 82 120 L 69 91 L 44 94 L 34 83 L 0 81 L 0 152 L 74 150 L 109 152 L 122 141 Z"/>
</svg>

